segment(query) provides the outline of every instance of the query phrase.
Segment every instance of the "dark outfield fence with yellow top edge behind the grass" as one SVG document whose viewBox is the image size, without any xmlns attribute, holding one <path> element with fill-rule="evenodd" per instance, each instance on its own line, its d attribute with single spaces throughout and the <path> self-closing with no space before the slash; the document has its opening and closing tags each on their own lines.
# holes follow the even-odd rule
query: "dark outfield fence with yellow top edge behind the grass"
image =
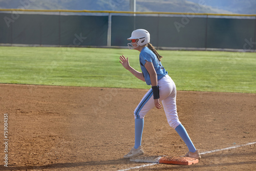
<svg viewBox="0 0 256 171">
<path fill-rule="evenodd" d="M 140 28 L 151 33 L 158 48 L 256 49 L 256 15 L 239 19 L 111 12 L 106 16 L 0 13 L 0 44 L 123 47 L 132 31 Z"/>
</svg>

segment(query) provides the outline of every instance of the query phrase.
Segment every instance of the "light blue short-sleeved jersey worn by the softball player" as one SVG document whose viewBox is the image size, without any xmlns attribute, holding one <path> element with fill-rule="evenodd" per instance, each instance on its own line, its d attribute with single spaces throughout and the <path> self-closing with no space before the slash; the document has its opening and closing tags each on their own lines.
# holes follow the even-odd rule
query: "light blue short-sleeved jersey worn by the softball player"
<svg viewBox="0 0 256 171">
<path fill-rule="evenodd" d="M 165 69 L 163 68 L 162 63 L 158 60 L 157 56 L 150 49 L 144 47 L 140 52 L 140 68 L 147 85 L 151 84 L 151 80 L 150 74 L 148 74 L 146 68 L 144 67 L 146 61 L 153 63 L 153 66 L 157 73 L 157 80 L 168 74 L 167 71 L 165 71 Z"/>
</svg>

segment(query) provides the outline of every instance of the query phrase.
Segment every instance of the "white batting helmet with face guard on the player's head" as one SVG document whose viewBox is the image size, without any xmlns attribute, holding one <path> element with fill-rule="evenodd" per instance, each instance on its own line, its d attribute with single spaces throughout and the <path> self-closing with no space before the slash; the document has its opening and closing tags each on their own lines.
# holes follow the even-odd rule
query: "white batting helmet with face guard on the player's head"
<svg viewBox="0 0 256 171">
<path fill-rule="evenodd" d="M 150 33 L 144 29 L 137 29 L 132 32 L 132 36 L 130 38 L 127 38 L 127 40 L 132 39 L 139 39 L 137 44 L 139 46 L 143 46 L 150 42 Z"/>
</svg>

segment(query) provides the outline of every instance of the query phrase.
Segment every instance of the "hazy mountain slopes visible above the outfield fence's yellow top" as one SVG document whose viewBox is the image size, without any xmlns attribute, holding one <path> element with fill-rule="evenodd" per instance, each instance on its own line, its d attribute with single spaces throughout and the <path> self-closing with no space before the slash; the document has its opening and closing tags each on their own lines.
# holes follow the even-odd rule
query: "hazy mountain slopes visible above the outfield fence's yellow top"
<svg viewBox="0 0 256 171">
<path fill-rule="evenodd" d="M 0 8 L 129 11 L 130 0 L 0 0 Z M 137 0 L 136 11 L 256 14 L 256 0 Z"/>
</svg>

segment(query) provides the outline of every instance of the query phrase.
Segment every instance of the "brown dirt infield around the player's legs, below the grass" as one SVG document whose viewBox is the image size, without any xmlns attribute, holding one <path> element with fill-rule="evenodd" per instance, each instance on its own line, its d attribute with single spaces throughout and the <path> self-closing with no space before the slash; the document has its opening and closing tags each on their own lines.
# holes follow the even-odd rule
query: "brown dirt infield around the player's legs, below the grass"
<svg viewBox="0 0 256 171">
<path fill-rule="evenodd" d="M 146 90 L 0 84 L 0 132 L 8 114 L 8 153 L 0 170 L 119 170 L 147 163 L 123 155 L 134 145 L 133 111 Z M 180 121 L 201 152 L 256 142 L 256 94 L 177 93 Z M 146 155 L 181 156 L 187 148 L 163 109 L 145 117 Z M 8 167 L 4 155 L 8 154 Z M 132 170 L 254 170 L 255 144 L 202 155 L 190 166 Z"/>
</svg>

